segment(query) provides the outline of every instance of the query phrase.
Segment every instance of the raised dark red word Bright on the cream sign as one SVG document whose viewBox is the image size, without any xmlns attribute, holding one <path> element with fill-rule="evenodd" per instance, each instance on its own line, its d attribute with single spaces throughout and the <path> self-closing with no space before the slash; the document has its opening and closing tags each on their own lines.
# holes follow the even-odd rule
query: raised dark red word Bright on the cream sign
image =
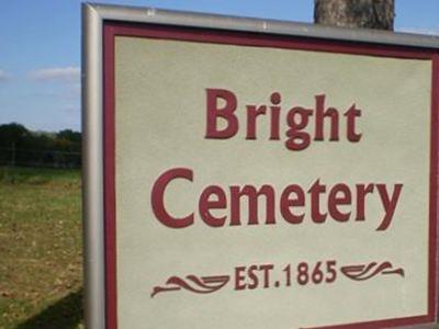
<svg viewBox="0 0 439 329">
<path fill-rule="evenodd" d="M 304 106 L 293 106 L 284 114 L 288 129 L 285 147 L 290 150 L 303 150 L 312 141 L 312 135 L 306 131 L 309 121 L 314 120 L 313 140 L 325 140 L 325 121 L 329 124 L 329 140 L 339 140 L 340 115 L 336 107 L 325 106 L 325 94 L 315 95 L 314 109 Z M 273 92 L 270 97 L 270 104 L 246 104 L 246 139 L 257 139 L 258 124 L 268 122 L 270 127 L 270 140 L 280 140 L 281 129 L 281 94 Z M 206 134 L 207 139 L 228 139 L 234 137 L 240 126 L 236 110 L 238 99 L 235 93 L 226 89 L 206 89 Z M 283 111 L 283 110 L 282 110 Z M 263 116 L 267 115 L 264 122 Z M 258 116 L 259 120 L 258 120 Z M 346 138 L 351 143 L 361 139 L 361 134 L 356 129 L 356 121 L 361 116 L 361 110 L 352 104 L 344 113 L 346 122 Z M 218 118 L 226 123 L 225 127 L 219 127 Z M 327 134 L 326 134 L 327 135 Z"/>
</svg>

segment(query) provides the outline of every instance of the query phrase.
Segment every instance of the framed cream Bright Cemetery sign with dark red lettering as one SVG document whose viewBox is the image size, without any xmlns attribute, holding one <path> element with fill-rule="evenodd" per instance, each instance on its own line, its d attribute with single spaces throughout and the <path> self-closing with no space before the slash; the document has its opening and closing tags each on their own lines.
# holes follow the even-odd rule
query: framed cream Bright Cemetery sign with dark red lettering
<svg viewBox="0 0 439 329">
<path fill-rule="evenodd" d="M 437 321 L 437 38 L 85 16 L 90 326 Z"/>
</svg>

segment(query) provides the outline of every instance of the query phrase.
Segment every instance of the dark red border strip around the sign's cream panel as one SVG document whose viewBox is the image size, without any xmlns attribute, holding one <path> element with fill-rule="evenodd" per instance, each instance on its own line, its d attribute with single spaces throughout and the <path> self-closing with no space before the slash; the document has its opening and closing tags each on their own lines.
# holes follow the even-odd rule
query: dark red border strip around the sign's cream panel
<svg viewBox="0 0 439 329">
<path fill-rule="evenodd" d="M 262 34 L 210 30 L 188 26 L 170 26 L 150 23 L 103 22 L 103 154 L 104 154 L 104 250 L 105 250 L 105 324 L 108 329 L 117 328 L 117 277 L 116 277 L 116 225 L 115 225 L 115 36 L 147 37 L 227 44 L 283 49 L 301 49 L 337 54 L 369 55 L 392 58 L 427 59 L 432 64 L 431 77 L 431 127 L 430 127 L 430 198 L 429 198 L 429 277 L 428 314 L 395 319 L 373 320 L 346 325 L 318 327 L 383 328 L 436 324 L 437 321 L 437 189 L 438 189 L 438 115 L 439 115 L 439 52 L 410 46 L 353 43 L 315 37 Z M 435 92 L 436 91 L 436 92 Z"/>
</svg>

